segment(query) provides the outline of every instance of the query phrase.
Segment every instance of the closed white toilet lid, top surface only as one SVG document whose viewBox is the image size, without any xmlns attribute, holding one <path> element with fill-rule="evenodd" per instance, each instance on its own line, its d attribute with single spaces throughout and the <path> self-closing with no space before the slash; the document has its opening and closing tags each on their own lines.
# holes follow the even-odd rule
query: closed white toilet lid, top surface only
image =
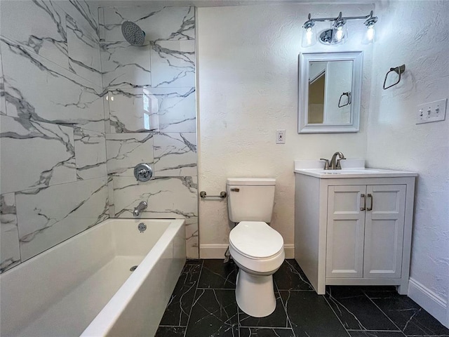
<svg viewBox="0 0 449 337">
<path fill-rule="evenodd" d="M 229 233 L 229 243 L 249 258 L 269 258 L 283 249 L 283 238 L 267 223 L 242 221 Z"/>
</svg>

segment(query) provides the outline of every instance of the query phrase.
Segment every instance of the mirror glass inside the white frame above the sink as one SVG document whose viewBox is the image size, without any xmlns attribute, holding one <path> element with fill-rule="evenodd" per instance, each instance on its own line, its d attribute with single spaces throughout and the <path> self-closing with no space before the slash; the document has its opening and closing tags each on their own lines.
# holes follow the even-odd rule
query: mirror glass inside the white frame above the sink
<svg viewBox="0 0 449 337">
<path fill-rule="evenodd" d="M 308 124 L 350 124 L 352 60 L 309 62 Z"/>
</svg>

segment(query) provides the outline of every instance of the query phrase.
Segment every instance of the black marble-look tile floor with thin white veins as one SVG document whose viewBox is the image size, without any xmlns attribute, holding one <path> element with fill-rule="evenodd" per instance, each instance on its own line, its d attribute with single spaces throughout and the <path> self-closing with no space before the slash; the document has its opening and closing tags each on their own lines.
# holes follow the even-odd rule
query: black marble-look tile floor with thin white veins
<svg viewBox="0 0 449 337">
<path fill-rule="evenodd" d="M 392 286 L 330 286 L 316 295 L 295 260 L 274 274 L 276 310 L 250 317 L 236 305 L 237 271 L 232 261 L 188 260 L 156 337 L 449 337 Z"/>
</svg>

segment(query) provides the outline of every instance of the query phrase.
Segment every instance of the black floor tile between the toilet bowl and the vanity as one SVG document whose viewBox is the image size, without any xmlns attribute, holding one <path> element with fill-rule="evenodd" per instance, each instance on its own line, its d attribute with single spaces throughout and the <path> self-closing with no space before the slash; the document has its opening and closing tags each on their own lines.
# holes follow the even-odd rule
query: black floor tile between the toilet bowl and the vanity
<svg viewBox="0 0 449 337">
<path fill-rule="evenodd" d="M 293 259 L 284 260 L 273 277 L 279 290 L 314 290 L 300 265 Z"/>
</svg>

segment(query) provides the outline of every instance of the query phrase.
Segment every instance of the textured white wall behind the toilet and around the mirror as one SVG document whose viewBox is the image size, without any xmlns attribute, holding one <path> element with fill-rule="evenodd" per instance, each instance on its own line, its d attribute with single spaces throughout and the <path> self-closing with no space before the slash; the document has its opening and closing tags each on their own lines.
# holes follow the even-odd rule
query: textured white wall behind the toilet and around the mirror
<svg viewBox="0 0 449 337">
<path fill-rule="evenodd" d="M 370 5 L 273 5 L 198 8 L 199 190 L 217 194 L 226 178 L 274 177 L 272 227 L 293 244 L 295 159 L 366 156 L 371 48 L 366 47 L 361 131 L 297 133 L 297 60 L 302 25 L 313 17 L 366 15 Z M 328 24 L 323 24 L 328 25 Z M 319 26 L 319 29 L 323 26 Z M 316 44 L 304 52 L 363 50 L 363 22 L 349 22 L 350 43 Z M 286 129 L 286 144 L 276 145 L 276 129 Z M 232 225 L 226 201 L 199 203 L 200 247 L 227 244 Z M 201 251 L 201 249 L 200 249 Z"/>
</svg>

